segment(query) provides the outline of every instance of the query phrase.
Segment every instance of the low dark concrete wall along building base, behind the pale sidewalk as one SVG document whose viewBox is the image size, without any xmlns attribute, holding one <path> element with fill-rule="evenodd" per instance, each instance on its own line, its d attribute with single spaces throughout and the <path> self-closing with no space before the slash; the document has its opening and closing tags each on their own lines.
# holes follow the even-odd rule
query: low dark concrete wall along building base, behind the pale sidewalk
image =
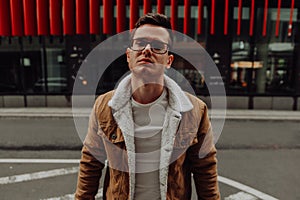
<svg viewBox="0 0 300 200">
<path fill-rule="evenodd" d="M 209 108 L 211 108 L 211 98 L 200 96 Z M 27 96 L 27 107 L 71 107 L 72 99 L 76 107 L 91 107 L 95 96 Z M 223 108 L 223 97 L 214 97 L 214 109 Z M 226 97 L 227 109 L 248 109 L 249 97 L 228 96 Z M 293 97 L 253 97 L 253 109 L 256 110 L 293 110 Z M 25 107 L 24 96 L 0 96 L 0 107 L 15 108 Z M 300 110 L 300 97 L 297 99 L 297 110 Z"/>
</svg>

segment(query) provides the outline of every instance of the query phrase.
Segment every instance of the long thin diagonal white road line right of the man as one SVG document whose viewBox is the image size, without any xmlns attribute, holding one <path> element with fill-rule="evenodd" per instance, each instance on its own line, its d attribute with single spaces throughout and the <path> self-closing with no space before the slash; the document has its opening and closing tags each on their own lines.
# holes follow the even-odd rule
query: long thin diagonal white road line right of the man
<svg viewBox="0 0 300 200">
<path fill-rule="evenodd" d="M 256 197 L 258 197 L 260 199 L 263 199 L 263 200 L 278 200 L 278 199 L 276 199 L 276 198 L 274 198 L 274 197 L 272 197 L 272 196 L 270 196 L 268 194 L 265 194 L 265 193 L 263 193 L 261 191 L 258 191 L 258 190 L 254 189 L 254 188 L 251 188 L 251 187 L 249 187 L 247 185 L 244 185 L 244 184 L 239 183 L 237 181 L 231 180 L 229 178 L 218 176 L 218 180 L 221 183 L 225 183 L 227 185 L 235 187 L 235 188 L 237 188 L 239 190 L 242 190 L 244 192 L 252 194 L 252 195 L 254 195 L 254 196 L 256 196 Z"/>
</svg>

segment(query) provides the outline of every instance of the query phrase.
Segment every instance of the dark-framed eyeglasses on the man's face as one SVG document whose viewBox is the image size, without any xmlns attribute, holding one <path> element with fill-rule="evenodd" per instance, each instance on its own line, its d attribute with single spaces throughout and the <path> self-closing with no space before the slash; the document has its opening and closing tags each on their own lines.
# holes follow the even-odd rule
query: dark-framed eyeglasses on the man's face
<svg viewBox="0 0 300 200">
<path fill-rule="evenodd" d="M 157 54 L 165 54 L 169 50 L 167 43 L 158 40 L 149 41 L 146 39 L 133 39 L 130 49 L 133 51 L 143 51 L 148 44 L 150 44 L 151 51 Z"/>
</svg>

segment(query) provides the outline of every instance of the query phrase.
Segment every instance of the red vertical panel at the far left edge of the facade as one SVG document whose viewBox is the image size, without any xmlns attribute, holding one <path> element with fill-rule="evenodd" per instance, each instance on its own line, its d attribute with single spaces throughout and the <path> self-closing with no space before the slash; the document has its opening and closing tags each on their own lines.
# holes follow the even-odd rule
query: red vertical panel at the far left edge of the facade
<svg viewBox="0 0 300 200">
<path fill-rule="evenodd" d="M 0 0 L 0 36 L 10 36 L 9 0 Z"/>
</svg>

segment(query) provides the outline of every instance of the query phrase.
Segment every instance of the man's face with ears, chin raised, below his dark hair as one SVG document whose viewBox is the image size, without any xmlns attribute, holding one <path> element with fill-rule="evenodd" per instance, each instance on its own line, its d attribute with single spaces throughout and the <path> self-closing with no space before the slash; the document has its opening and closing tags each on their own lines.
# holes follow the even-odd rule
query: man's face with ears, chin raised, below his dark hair
<svg viewBox="0 0 300 200">
<path fill-rule="evenodd" d="M 161 77 L 174 59 L 173 55 L 168 55 L 168 44 L 169 33 L 165 28 L 150 24 L 137 28 L 132 49 L 126 51 L 128 66 L 133 75 L 139 78 Z"/>
</svg>

